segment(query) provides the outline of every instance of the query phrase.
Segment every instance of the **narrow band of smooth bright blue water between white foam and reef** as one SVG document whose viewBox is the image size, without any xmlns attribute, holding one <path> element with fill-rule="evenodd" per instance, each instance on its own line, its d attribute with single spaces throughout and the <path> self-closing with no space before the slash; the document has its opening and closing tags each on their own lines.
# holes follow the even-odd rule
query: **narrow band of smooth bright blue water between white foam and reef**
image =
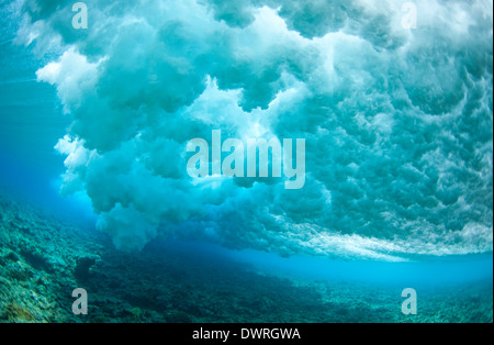
<svg viewBox="0 0 494 345">
<path fill-rule="evenodd" d="M 256 270 L 281 276 L 303 277 L 311 280 L 371 282 L 378 286 L 434 287 L 492 280 L 492 255 L 427 257 L 408 263 L 374 260 L 339 260 L 324 257 L 293 256 L 252 249 L 228 251 L 205 243 L 184 243 L 168 240 L 155 244 L 164 251 L 179 251 L 203 257 L 220 257 L 252 265 Z"/>
</svg>

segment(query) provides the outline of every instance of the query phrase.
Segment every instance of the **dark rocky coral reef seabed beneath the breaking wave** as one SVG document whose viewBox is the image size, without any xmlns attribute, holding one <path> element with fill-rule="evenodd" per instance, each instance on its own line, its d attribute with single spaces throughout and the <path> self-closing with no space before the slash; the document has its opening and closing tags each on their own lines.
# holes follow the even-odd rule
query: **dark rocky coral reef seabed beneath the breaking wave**
<svg viewBox="0 0 494 345">
<path fill-rule="evenodd" d="M 0 322 L 493 322 L 492 280 L 424 287 L 411 316 L 397 286 L 260 274 L 159 242 L 122 253 L 1 194 L 0 219 Z M 76 288 L 88 315 L 71 312 Z"/>
</svg>

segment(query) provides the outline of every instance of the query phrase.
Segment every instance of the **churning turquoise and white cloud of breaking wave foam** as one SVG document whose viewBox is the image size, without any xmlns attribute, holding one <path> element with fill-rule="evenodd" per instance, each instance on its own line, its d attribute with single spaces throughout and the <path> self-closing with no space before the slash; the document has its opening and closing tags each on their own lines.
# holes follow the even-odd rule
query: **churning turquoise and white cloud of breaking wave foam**
<svg viewBox="0 0 494 345">
<path fill-rule="evenodd" d="M 71 119 L 61 192 L 116 247 L 492 252 L 492 2 L 414 1 L 404 25 L 402 1 L 94 1 L 78 31 L 71 1 L 23 2 L 16 42 L 50 56 L 37 80 Z M 187 145 L 214 130 L 305 140 L 303 188 L 191 177 Z"/>
</svg>

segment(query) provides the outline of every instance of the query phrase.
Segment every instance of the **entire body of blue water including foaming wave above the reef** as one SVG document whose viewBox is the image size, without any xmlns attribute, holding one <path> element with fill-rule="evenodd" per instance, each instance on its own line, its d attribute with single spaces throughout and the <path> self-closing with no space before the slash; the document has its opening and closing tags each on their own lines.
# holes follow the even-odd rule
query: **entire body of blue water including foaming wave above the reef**
<svg viewBox="0 0 494 345">
<path fill-rule="evenodd" d="M 2 194 L 132 255 L 492 292 L 492 3 L 437 1 L 458 22 L 424 14 L 412 32 L 393 20 L 400 7 L 374 16 L 353 1 L 91 4 L 86 32 L 67 21 L 70 1 L 27 3 L 41 10 L 0 3 Z M 147 25 L 122 24 L 128 13 Z M 187 141 L 215 129 L 306 138 L 304 188 L 191 183 Z"/>
</svg>

